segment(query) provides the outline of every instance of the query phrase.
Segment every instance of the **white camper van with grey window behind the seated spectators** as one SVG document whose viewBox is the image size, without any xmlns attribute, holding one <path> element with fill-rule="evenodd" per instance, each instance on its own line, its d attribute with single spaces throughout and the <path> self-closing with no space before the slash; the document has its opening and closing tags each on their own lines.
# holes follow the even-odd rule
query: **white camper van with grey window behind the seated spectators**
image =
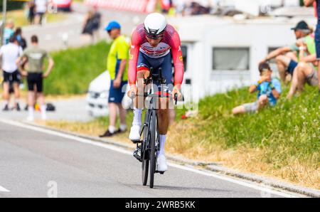
<svg viewBox="0 0 320 212">
<path fill-rule="evenodd" d="M 181 37 L 186 73 L 186 102 L 250 85 L 259 78 L 258 63 L 267 53 L 295 42 L 291 30 L 299 21 L 316 18 L 233 18 L 192 16 L 171 18 Z M 276 65 L 272 68 L 277 73 Z"/>
</svg>

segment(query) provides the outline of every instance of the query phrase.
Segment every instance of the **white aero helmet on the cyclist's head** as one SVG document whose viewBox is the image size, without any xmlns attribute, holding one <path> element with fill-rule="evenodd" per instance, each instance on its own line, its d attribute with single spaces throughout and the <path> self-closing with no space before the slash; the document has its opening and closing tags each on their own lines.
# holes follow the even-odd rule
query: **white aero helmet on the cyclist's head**
<svg viewBox="0 0 320 212">
<path fill-rule="evenodd" d="M 144 19 L 144 31 L 149 38 L 159 38 L 166 31 L 166 26 L 166 17 L 162 14 L 149 14 Z"/>
</svg>

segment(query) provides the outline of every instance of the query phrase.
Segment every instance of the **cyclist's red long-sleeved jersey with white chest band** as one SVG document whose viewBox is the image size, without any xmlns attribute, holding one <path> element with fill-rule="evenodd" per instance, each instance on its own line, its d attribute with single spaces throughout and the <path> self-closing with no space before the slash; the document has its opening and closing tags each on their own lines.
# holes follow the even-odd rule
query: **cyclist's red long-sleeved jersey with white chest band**
<svg viewBox="0 0 320 212">
<path fill-rule="evenodd" d="M 183 81 L 183 58 L 181 51 L 181 41 L 178 32 L 173 26 L 168 25 L 164 32 L 164 38 L 158 46 L 152 47 L 146 40 L 144 24 L 137 26 L 132 33 L 132 46 L 129 60 L 129 84 L 134 85 L 137 80 L 137 62 L 139 52 L 144 53 L 150 58 L 161 58 L 169 53 L 174 60 L 174 85 L 181 85 Z"/>
</svg>

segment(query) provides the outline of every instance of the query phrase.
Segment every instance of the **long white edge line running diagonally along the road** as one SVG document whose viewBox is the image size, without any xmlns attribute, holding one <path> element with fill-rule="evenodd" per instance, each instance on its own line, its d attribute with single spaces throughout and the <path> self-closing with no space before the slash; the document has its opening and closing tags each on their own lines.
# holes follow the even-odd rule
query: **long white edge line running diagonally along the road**
<svg viewBox="0 0 320 212">
<path fill-rule="evenodd" d="M 22 127 L 22 128 L 25 128 L 25 129 L 32 129 L 32 130 L 37 131 L 37 132 L 43 132 L 43 133 L 51 134 L 51 135 L 58 136 L 58 137 L 64 137 L 66 139 L 72 139 L 72 140 L 75 140 L 77 142 L 81 142 L 83 144 L 90 144 L 90 145 L 93 145 L 93 146 L 96 146 L 96 147 L 102 147 L 102 148 L 105 148 L 105 149 L 110 149 L 110 150 L 112 150 L 114 152 L 119 152 L 119 153 L 122 153 L 122 154 L 132 155 L 132 152 L 124 150 L 124 149 L 122 149 L 120 147 L 114 147 L 111 144 L 103 144 L 103 143 L 100 143 L 100 142 L 92 142 L 89 139 L 83 139 L 83 138 L 76 137 L 76 136 L 73 136 L 73 135 L 63 134 L 61 132 L 55 132 L 55 131 L 50 130 L 50 129 L 43 129 L 41 127 L 34 127 L 34 126 L 31 126 L 31 125 L 28 125 L 28 124 L 23 124 L 21 122 L 5 120 L 5 119 L 2 119 L 2 118 L 0 118 L 0 122 L 2 122 L 4 124 L 10 124 L 10 125 L 13 125 L 13 126 L 16 126 L 16 127 Z M 251 188 L 251 189 L 255 189 L 255 190 L 258 190 L 258 191 L 262 191 L 262 192 L 265 192 L 265 193 L 269 193 L 269 194 L 275 194 L 275 195 L 283 196 L 283 197 L 287 197 L 287 198 L 296 198 L 296 197 L 298 197 L 298 196 L 294 196 L 292 194 L 286 194 L 286 193 L 281 192 L 281 191 L 275 191 L 274 189 L 269 188 L 267 186 L 252 184 L 252 183 L 249 183 L 249 182 L 246 182 L 246 181 L 233 179 L 233 178 L 230 178 L 228 176 L 223 176 L 223 175 L 215 174 L 215 173 L 209 173 L 207 171 L 201 171 L 200 169 L 195 169 L 195 168 L 188 167 L 188 166 L 181 166 L 181 165 L 173 164 L 173 163 L 169 163 L 169 166 L 174 167 L 176 169 L 181 169 L 181 170 L 185 170 L 185 171 L 191 171 L 193 173 L 201 174 L 203 176 L 211 176 L 211 177 L 214 177 L 215 179 L 220 179 L 220 180 L 223 180 L 223 181 L 229 181 L 229 182 L 231 182 L 233 184 L 238 184 L 240 186 L 245 186 L 245 187 L 248 187 L 248 188 Z M 0 191 L 1 191 L 1 186 L 0 186 Z"/>
</svg>

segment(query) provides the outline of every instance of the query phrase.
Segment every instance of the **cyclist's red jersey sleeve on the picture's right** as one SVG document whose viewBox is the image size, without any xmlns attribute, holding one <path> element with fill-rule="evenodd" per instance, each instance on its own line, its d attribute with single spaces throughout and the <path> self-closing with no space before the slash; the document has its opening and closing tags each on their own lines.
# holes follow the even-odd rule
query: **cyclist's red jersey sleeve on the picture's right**
<svg viewBox="0 0 320 212">
<path fill-rule="evenodd" d="M 183 58 L 181 51 L 181 41 L 178 32 L 174 32 L 171 37 L 171 53 L 174 60 L 174 85 L 181 86 L 183 82 Z"/>
</svg>

